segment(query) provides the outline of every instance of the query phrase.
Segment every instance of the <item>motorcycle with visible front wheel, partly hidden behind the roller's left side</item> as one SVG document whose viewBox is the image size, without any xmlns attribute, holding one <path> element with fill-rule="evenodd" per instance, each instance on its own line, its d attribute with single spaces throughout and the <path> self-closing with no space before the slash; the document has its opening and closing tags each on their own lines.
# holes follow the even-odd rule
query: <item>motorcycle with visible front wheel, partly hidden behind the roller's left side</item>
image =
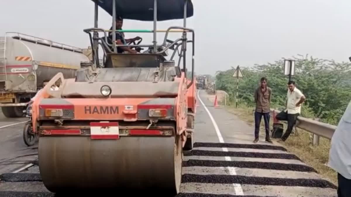
<svg viewBox="0 0 351 197">
<path fill-rule="evenodd" d="M 26 110 L 23 110 L 23 113 L 26 114 L 26 117 L 29 120 L 25 123 L 23 128 L 23 141 L 24 143 L 30 147 L 35 144 L 38 140 L 39 136 L 37 133 L 33 131 L 33 124 L 32 124 L 32 104 L 28 104 Z"/>
</svg>

